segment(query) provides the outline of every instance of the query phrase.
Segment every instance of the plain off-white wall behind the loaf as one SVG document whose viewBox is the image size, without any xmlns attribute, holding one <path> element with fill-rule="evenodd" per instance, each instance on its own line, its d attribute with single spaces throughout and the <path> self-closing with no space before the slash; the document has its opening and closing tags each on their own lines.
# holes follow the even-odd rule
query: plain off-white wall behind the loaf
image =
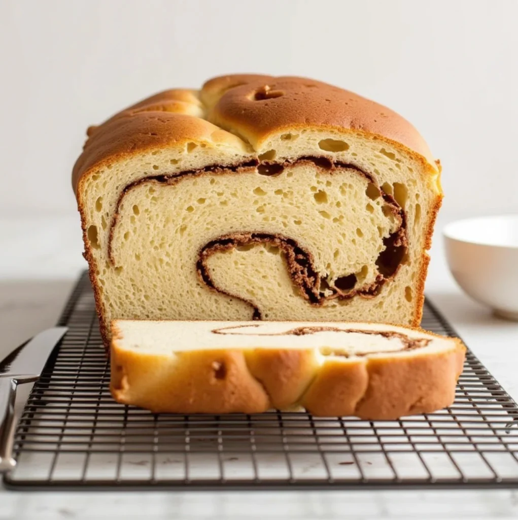
<svg viewBox="0 0 518 520">
<path fill-rule="evenodd" d="M 74 215 L 86 127 L 157 90 L 299 74 L 388 105 L 443 215 L 518 211 L 514 0 L 0 0 L 0 217 Z"/>
</svg>

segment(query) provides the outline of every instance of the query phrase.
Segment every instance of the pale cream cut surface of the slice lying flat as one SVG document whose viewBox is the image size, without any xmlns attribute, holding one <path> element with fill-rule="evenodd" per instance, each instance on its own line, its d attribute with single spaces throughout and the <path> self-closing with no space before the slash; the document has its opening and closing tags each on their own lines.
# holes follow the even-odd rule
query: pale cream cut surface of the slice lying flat
<svg viewBox="0 0 518 520">
<path fill-rule="evenodd" d="M 323 363 L 328 356 L 348 362 L 356 355 L 365 354 L 378 357 L 394 353 L 400 356 L 436 354 L 456 345 L 450 337 L 382 323 L 115 320 L 113 326 L 118 330 L 117 348 L 142 356 L 174 356 L 194 350 L 310 348 L 322 353 L 318 361 Z M 429 343 L 416 352 L 415 348 L 405 348 L 401 337 L 390 336 L 391 333 L 402 334 L 410 340 L 429 340 Z"/>
</svg>

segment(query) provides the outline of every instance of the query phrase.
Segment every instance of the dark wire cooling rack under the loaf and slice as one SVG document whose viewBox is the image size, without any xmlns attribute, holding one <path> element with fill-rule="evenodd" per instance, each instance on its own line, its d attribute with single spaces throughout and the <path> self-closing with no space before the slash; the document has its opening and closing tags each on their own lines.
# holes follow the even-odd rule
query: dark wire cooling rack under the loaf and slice
<svg viewBox="0 0 518 520">
<path fill-rule="evenodd" d="M 399 421 L 155 415 L 110 397 L 86 274 L 59 324 L 70 330 L 23 411 L 10 488 L 518 487 L 518 407 L 472 353 L 451 408 Z M 428 302 L 422 326 L 455 334 Z"/>
</svg>

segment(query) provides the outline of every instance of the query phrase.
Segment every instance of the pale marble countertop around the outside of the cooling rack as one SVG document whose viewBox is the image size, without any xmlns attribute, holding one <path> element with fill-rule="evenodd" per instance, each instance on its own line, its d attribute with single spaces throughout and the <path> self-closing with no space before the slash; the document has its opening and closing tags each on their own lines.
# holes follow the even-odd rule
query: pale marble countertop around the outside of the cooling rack
<svg viewBox="0 0 518 520">
<path fill-rule="evenodd" d="M 52 326 L 86 267 L 76 218 L 0 219 L 0 356 Z M 439 223 L 441 227 L 441 222 Z M 427 296 L 490 372 L 518 399 L 518 323 L 460 292 L 439 233 Z M 4 518 L 516 518 L 518 491 L 11 492 Z"/>
</svg>

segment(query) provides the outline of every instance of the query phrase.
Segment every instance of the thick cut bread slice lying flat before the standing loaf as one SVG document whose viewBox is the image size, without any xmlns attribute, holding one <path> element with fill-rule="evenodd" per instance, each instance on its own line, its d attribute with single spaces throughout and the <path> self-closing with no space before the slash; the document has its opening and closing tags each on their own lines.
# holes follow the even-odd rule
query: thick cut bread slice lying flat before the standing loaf
<svg viewBox="0 0 518 520">
<path fill-rule="evenodd" d="M 464 351 L 374 323 L 114 320 L 111 392 L 153 412 L 397 419 L 453 402 Z"/>
</svg>

